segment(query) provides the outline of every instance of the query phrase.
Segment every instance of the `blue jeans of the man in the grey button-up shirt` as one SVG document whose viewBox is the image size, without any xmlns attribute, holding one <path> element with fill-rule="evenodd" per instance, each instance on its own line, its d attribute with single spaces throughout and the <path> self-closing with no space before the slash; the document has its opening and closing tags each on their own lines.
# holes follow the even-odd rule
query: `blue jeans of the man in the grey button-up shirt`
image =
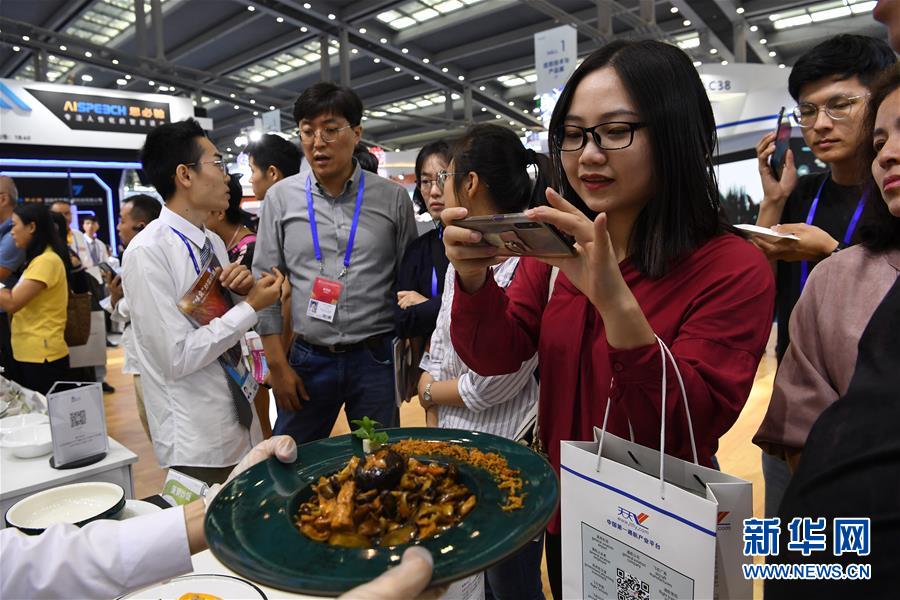
<svg viewBox="0 0 900 600">
<path fill-rule="evenodd" d="M 299 411 L 279 408 L 273 434 L 289 435 L 297 444 L 327 438 L 341 406 L 348 424 L 369 417 L 384 427 L 397 427 L 400 412 L 394 401 L 391 342 L 390 336 L 383 336 L 370 347 L 340 353 L 294 342 L 288 362 L 303 380 L 309 400 Z"/>
</svg>

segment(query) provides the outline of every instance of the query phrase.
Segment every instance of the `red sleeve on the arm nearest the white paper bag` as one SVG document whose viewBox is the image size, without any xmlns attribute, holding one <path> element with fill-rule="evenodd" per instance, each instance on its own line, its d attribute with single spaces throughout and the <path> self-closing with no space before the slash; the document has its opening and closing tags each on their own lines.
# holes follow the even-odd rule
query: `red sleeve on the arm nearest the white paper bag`
<svg viewBox="0 0 900 600">
<path fill-rule="evenodd" d="M 740 252 L 728 260 L 720 259 L 717 264 L 730 272 L 708 273 L 709 277 L 689 283 L 693 291 L 689 292 L 686 317 L 675 339 L 663 340 L 684 380 L 697 452 L 707 464 L 718 439 L 731 428 L 747 401 L 771 330 L 775 284 L 769 265 L 757 254 Z M 741 268 L 735 269 L 735 265 Z M 678 304 L 673 298 L 673 306 Z M 656 440 L 656 447 L 662 401 L 661 351 L 656 344 L 609 350 L 614 378 L 610 397 L 629 415 L 635 439 L 641 443 Z M 690 448 L 684 402 L 668 362 L 666 453 L 689 457 Z"/>
</svg>

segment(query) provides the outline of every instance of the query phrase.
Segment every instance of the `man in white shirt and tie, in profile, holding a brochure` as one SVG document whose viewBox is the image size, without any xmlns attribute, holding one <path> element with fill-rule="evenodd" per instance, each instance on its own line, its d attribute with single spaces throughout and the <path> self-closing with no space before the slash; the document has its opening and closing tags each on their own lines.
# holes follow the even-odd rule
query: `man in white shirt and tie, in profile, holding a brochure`
<svg viewBox="0 0 900 600">
<path fill-rule="evenodd" d="M 250 402 L 255 390 L 242 389 L 235 378 L 247 380 L 219 359 L 256 324 L 257 311 L 278 299 L 284 278 L 263 273 L 254 283 L 204 227 L 210 211 L 228 207 L 228 173 L 196 121 L 151 131 L 141 159 L 165 206 L 129 244 L 122 282 L 153 449 L 161 466 L 221 483 L 262 434 Z M 224 266 L 222 287 L 246 301 L 235 298 L 221 317 L 195 327 L 179 303 L 213 259 Z"/>
</svg>

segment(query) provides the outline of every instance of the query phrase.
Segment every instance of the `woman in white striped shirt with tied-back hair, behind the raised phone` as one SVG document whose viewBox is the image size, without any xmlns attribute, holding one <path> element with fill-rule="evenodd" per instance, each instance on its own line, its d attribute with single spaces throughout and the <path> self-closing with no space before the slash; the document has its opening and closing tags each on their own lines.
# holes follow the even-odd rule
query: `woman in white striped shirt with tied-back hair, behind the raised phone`
<svg viewBox="0 0 900 600">
<path fill-rule="evenodd" d="M 522 146 L 511 129 L 474 125 L 454 144 L 447 170 L 437 173 L 443 201 L 448 207 L 465 207 L 470 216 L 522 212 L 543 201 L 547 180 L 539 158 Z M 533 169 L 537 170 L 537 183 L 529 174 Z M 511 257 L 500 261 L 489 277 L 499 288 L 506 288 L 515 281 L 520 260 Z M 534 377 L 537 355 L 532 351 L 513 371 L 497 377 L 482 377 L 460 360 L 450 342 L 454 277 L 452 267 L 447 269 L 437 326 L 420 365 L 425 372 L 419 379 L 419 402 L 429 414 L 437 413 L 439 427 L 512 438 L 538 398 Z M 529 542 L 488 569 L 485 598 L 543 600 L 542 550 L 541 540 Z"/>
</svg>

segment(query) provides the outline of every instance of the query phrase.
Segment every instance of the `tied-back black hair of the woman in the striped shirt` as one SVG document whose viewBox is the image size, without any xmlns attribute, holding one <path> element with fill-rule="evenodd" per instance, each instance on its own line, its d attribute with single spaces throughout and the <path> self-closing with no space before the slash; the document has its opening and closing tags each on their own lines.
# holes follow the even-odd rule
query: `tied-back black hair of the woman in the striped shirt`
<svg viewBox="0 0 900 600">
<path fill-rule="evenodd" d="M 544 190 L 550 181 L 546 163 L 534 150 L 525 148 L 511 129 L 491 123 L 469 127 L 454 144 L 452 159 L 456 189 L 461 188 L 467 173 L 478 173 L 495 208 L 502 213 L 520 212 L 544 203 Z M 535 181 L 528 173 L 532 165 L 537 170 Z"/>
</svg>

